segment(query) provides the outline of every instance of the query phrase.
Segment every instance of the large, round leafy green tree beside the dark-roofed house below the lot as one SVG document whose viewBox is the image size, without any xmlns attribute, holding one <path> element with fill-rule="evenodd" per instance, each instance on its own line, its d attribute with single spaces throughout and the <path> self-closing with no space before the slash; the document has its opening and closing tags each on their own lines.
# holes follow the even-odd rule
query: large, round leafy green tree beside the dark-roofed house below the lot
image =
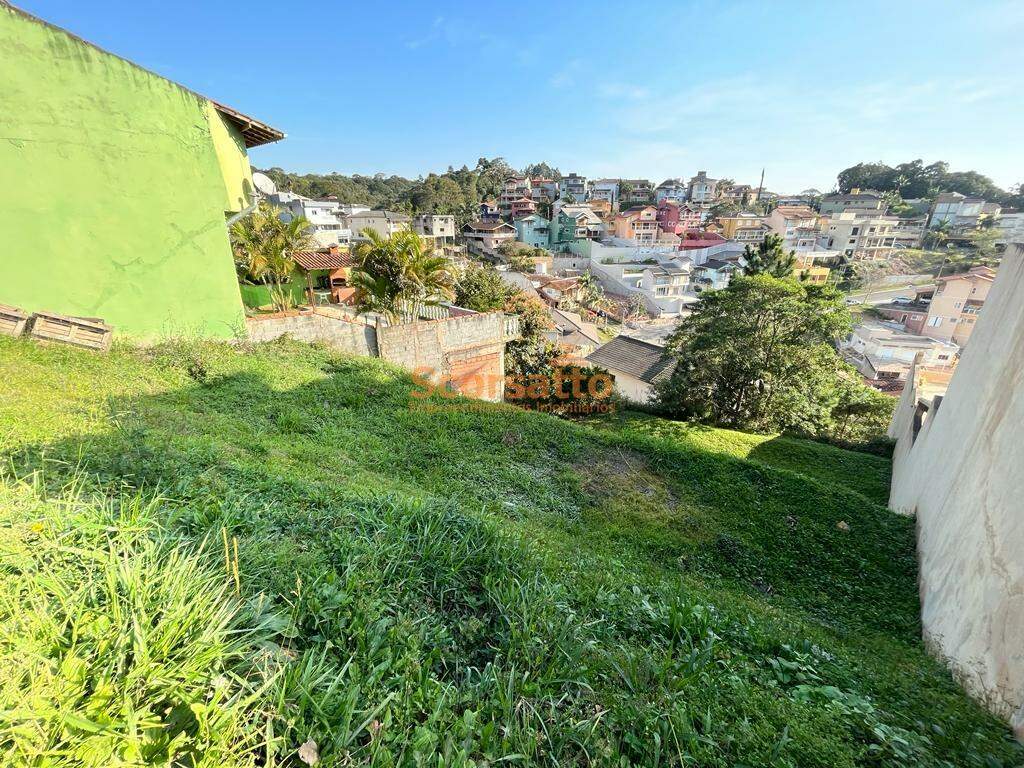
<svg viewBox="0 0 1024 768">
<path fill-rule="evenodd" d="M 850 328 L 843 296 L 830 287 L 736 278 L 701 294 L 669 337 L 677 365 L 658 399 L 684 419 L 829 435 L 844 387 L 856 381 L 833 346 Z"/>
</svg>

